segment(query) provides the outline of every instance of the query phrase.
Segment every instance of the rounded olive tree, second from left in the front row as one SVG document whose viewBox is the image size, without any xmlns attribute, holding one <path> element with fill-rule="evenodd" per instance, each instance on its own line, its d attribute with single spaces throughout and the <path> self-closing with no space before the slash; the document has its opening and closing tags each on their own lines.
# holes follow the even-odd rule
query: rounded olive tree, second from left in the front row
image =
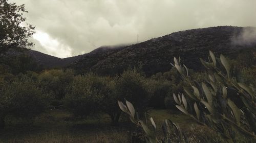
<svg viewBox="0 0 256 143">
<path fill-rule="evenodd" d="M 95 86 L 100 83 L 92 81 L 94 75 L 77 76 L 69 86 L 63 99 L 65 107 L 77 117 L 86 117 L 98 112 L 101 95 Z"/>
</svg>

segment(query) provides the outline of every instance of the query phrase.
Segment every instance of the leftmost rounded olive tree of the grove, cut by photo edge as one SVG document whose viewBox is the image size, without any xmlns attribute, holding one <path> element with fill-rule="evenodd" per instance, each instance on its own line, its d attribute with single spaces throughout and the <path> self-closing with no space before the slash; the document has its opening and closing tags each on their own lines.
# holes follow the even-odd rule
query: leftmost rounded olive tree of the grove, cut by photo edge
<svg viewBox="0 0 256 143">
<path fill-rule="evenodd" d="M 0 126 L 4 127 L 5 117 L 31 118 L 47 108 L 48 97 L 42 94 L 38 84 L 24 76 L 14 82 L 0 85 Z"/>
</svg>

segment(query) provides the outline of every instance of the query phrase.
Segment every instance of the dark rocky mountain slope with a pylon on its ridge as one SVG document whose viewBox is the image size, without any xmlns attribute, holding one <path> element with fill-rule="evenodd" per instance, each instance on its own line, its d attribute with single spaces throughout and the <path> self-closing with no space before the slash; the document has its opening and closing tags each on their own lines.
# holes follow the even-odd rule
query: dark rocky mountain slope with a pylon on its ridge
<svg viewBox="0 0 256 143">
<path fill-rule="evenodd" d="M 209 50 L 217 56 L 224 54 L 230 58 L 237 57 L 243 49 L 254 52 L 256 40 L 245 39 L 246 32 L 251 34 L 254 31 L 255 28 L 251 27 L 232 26 L 180 31 L 129 46 L 100 47 L 67 67 L 78 73 L 93 71 L 100 75 L 114 75 L 129 67 L 140 66 L 150 76 L 168 71 L 172 68 L 169 63 L 173 58 L 180 57 L 188 68 L 200 70 L 199 58 L 207 59 Z"/>
</svg>

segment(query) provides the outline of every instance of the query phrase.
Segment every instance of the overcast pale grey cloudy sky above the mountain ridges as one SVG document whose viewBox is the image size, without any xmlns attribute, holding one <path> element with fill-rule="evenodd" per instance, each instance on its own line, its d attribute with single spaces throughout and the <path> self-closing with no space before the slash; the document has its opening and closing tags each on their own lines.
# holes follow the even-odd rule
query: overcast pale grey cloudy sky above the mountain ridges
<svg viewBox="0 0 256 143">
<path fill-rule="evenodd" d="M 9 0 L 36 27 L 31 47 L 66 58 L 214 26 L 256 27 L 256 0 Z"/>
</svg>

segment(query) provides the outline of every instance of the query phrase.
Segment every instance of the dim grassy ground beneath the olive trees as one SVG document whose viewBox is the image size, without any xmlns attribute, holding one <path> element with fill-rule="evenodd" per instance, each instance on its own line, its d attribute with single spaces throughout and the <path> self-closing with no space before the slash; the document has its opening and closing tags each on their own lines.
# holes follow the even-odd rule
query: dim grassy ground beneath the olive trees
<svg viewBox="0 0 256 143">
<path fill-rule="evenodd" d="M 167 110 L 152 110 L 149 116 L 154 118 L 158 134 L 162 133 L 161 125 L 165 118 L 178 123 L 185 132 L 191 132 L 191 124 L 196 125 L 190 117 Z M 110 126 L 107 115 L 74 120 L 63 110 L 49 110 L 37 117 L 33 124 L 31 122 L 14 122 L 10 117 L 6 128 L 0 131 L 0 142 L 131 142 L 128 131 L 135 128 L 129 121 Z"/>
</svg>

